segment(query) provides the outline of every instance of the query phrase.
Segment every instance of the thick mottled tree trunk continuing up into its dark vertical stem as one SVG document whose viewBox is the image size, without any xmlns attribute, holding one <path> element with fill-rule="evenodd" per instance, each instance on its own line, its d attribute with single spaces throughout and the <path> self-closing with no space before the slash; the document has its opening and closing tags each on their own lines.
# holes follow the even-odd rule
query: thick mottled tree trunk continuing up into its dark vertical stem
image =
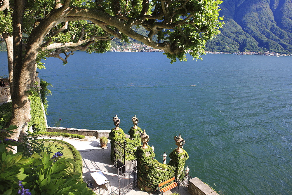
<svg viewBox="0 0 292 195">
<path fill-rule="evenodd" d="M 22 62 L 22 24 L 25 3 L 24 0 L 15 0 L 13 10 L 13 89 L 10 89 L 12 114 L 8 125 L 18 126 L 10 137 L 14 140 L 18 140 L 22 127 L 31 119 L 27 91 L 32 82 L 27 79 L 29 78 L 29 69 Z M 13 148 L 15 149 L 13 153 L 16 153 L 16 147 Z"/>
</svg>

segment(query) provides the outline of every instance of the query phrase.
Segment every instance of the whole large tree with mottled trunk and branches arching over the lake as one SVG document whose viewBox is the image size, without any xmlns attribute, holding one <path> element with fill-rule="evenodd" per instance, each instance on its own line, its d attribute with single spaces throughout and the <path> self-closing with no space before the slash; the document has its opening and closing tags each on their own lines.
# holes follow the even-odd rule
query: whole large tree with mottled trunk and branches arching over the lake
<svg viewBox="0 0 292 195">
<path fill-rule="evenodd" d="M 8 50 L 13 102 L 10 124 L 19 126 L 13 138 L 18 138 L 24 123 L 30 120 L 28 91 L 41 59 L 57 57 L 66 63 L 73 51 L 102 53 L 114 37 L 123 40 L 131 37 L 162 49 L 171 63 L 185 60 L 187 51 L 193 58 L 199 58 L 206 41 L 218 34 L 222 26 L 218 18 L 221 2 L 0 0 L 0 19 L 4 21 L 0 30 Z M 148 36 L 134 32 L 134 25 L 147 29 Z M 158 41 L 154 41 L 154 35 Z"/>
</svg>

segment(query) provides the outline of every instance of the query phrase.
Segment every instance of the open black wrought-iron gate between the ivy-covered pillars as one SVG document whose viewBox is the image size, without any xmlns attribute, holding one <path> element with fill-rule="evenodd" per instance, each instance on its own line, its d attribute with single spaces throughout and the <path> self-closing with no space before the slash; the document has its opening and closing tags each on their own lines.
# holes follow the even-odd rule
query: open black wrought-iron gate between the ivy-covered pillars
<svg viewBox="0 0 292 195">
<path fill-rule="evenodd" d="M 114 142 L 114 165 L 118 169 L 119 178 L 119 189 L 115 190 L 114 194 L 124 195 L 138 186 L 137 159 L 127 161 L 126 155 L 136 158 L 133 152 L 126 149 L 126 142 L 123 143 L 123 146 Z"/>
</svg>

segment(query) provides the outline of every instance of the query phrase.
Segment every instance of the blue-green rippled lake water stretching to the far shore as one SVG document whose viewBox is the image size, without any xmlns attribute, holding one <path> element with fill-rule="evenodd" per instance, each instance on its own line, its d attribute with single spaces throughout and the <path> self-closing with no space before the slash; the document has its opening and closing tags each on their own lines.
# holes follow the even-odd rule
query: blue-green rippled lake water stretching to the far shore
<svg viewBox="0 0 292 195">
<path fill-rule="evenodd" d="M 75 52 L 65 66 L 49 58 L 39 70 L 53 85 L 48 125 L 61 118 L 62 127 L 105 130 L 117 114 L 127 133 L 136 115 L 155 159 L 180 133 L 190 175 L 219 193 L 291 194 L 292 58 L 203 57 L 170 64 L 162 53 Z"/>
</svg>

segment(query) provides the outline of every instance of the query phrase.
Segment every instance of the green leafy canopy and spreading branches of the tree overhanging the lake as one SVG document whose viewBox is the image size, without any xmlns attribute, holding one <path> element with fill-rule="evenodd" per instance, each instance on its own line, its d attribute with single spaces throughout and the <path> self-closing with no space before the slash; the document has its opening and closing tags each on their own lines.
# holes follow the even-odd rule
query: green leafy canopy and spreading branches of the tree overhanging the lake
<svg viewBox="0 0 292 195">
<path fill-rule="evenodd" d="M 4 21 L 0 30 L 11 33 L 15 6 L 11 2 L 12 9 L 8 10 L 7 1 L 2 1 L 0 9 Z M 172 61 L 176 58 L 184 60 L 188 50 L 192 50 L 194 58 L 199 58 L 204 53 L 202 46 L 219 33 L 222 22 L 218 21 L 218 4 L 221 2 L 27 0 L 23 1 L 26 4 L 22 24 L 27 37 L 22 42 L 38 42 L 40 52 L 60 58 L 60 53 L 76 50 L 105 52 L 112 37 L 131 37 L 153 48 L 163 49 Z M 135 33 L 131 28 L 133 25 L 143 26 L 150 33 L 148 36 Z M 158 42 L 152 39 L 155 34 Z"/>
</svg>

